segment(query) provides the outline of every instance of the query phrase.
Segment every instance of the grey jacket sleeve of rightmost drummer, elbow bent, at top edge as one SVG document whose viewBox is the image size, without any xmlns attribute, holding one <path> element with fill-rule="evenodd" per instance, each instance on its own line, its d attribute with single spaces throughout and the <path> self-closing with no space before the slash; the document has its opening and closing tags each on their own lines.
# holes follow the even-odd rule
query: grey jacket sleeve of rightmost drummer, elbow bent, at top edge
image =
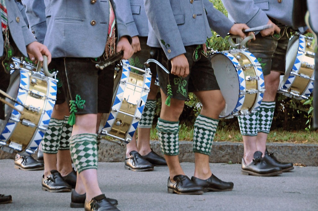
<svg viewBox="0 0 318 211">
<path fill-rule="evenodd" d="M 222 0 L 225 9 L 236 23 L 250 28 L 268 23 L 266 13 L 255 5 L 254 0 Z"/>
</svg>

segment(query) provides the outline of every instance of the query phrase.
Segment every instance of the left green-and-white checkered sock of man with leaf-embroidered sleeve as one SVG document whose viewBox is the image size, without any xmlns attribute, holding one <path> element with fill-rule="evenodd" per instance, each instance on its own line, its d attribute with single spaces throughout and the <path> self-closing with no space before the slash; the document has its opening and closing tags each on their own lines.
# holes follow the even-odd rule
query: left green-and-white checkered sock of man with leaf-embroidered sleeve
<svg viewBox="0 0 318 211">
<path fill-rule="evenodd" d="M 178 155 L 179 121 L 170 122 L 158 118 L 157 130 L 162 153 L 165 155 Z"/>
</svg>

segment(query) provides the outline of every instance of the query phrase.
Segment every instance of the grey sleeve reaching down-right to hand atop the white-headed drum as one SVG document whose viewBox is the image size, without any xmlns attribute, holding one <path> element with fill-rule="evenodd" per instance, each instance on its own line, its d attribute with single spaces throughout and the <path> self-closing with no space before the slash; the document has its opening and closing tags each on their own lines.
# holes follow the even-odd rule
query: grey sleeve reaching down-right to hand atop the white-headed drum
<svg viewBox="0 0 318 211">
<path fill-rule="evenodd" d="M 222 37 L 225 37 L 231 30 L 231 27 L 234 23 L 222 12 L 215 9 L 213 3 L 211 3 L 209 0 L 204 0 L 204 7 L 211 29 L 216 31 Z"/>
</svg>

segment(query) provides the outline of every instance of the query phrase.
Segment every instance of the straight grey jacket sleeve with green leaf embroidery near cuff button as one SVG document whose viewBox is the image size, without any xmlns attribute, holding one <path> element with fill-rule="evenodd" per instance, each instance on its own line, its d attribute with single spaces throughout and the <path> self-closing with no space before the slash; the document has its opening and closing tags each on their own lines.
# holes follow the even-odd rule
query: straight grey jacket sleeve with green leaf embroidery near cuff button
<svg viewBox="0 0 318 211">
<path fill-rule="evenodd" d="M 145 0 L 146 14 L 168 59 L 184 54 L 185 48 L 169 0 Z M 168 47 L 170 46 L 168 51 Z"/>
</svg>

